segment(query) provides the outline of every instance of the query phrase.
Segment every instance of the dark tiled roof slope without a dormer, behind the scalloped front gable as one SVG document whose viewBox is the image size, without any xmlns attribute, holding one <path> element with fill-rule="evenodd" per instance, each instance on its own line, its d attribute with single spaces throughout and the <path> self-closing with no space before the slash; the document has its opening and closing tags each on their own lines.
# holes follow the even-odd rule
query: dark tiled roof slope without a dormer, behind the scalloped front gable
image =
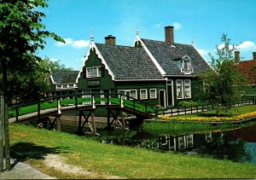
<svg viewBox="0 0 256 180">
<path fill-rule="evenodd" d="M 115 79 L 164 79 L 142 48 L 96 44 Z"/>
</svg>

